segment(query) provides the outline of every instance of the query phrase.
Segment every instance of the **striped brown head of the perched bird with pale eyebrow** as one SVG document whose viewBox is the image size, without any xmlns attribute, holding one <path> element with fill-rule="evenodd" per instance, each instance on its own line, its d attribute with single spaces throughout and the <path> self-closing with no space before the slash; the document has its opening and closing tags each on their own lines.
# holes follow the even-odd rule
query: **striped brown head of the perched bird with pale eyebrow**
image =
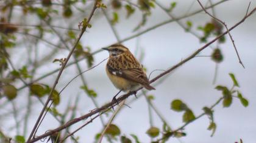
<svg viewBox="0 0 256 143">
<path fill-rule="evenodd" d="M 108 51 L 110 58 L 111 57 L 115 58 L 119 55 L 122 55 L 123 53 L 129 52 L 129 49 L 124 47 L 124 45 L 121 45 L 121 44 L 113 44 L 113 45 L 110 45 L 110 47 L 105 47 L 102 49 Z"/>
</svg>

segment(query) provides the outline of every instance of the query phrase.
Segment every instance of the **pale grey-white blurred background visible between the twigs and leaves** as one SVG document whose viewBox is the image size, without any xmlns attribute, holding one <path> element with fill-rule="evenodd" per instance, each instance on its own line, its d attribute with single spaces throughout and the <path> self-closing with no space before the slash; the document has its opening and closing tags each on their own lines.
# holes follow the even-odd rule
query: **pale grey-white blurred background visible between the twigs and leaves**
<svg viewBox="0 0 256 143">
<path fill-rule="evenodd" d="M 123 6 L 129 4 L 130 2 L 133 8 L 136 9 L 135 13 L 128 19 L 126 18 L 127 12 L 124 7 L 115 9 L 111 5 L 112 1 L 103 2 L 107 5 L 107 8 L 105 8 L 106 15 L 113 20 L 115 19 L 113 18 L 115 15 L 113 12 L 118 13 L 118 22 L 110 25 L 103 14 L 103 11 L 101 9 L 96 10 L 95 15 L 90 22 L 92 27 L 87 29 L 80 40 L 80 44 L 85 50 L 87 50 L 85 47 L 90 47 L 90 52 L 98 52 L 93 55 L 93 65 L 98 64 L 103 59 L 108 57 L 107 52 L 99 52 L 101 47 L 106 47 L 118 42 L 112 28 L 115 28 L 118 38 L 123 40 L 131 35 L 143 32 L 154 25 L 171 19 L 169 15 L 167 15 L 166 12 L 158 6 L 158 4 L 165 8 L 169 8 L 171 7 L 170 5 L 173 4 L 172 2 L 176 2 L 176 6 L 171 10 L 171 12 L 169 12 L 176 18 L 190 15 L 190 13 L 201 10 L 198 2 L 194 0 L 157 1 L 157 4 L 153 2 L 155 7 L 150 8 L 151 15 L 147 16 L 146 24 L 134 31 L 135 27 L 140 24 L 143 13 L 145 13 L 138 10 L 135 5 L 132 5 L 138 4 L 137 1 L 128 1 L 128 3 L 127 1 L 121 1 Z M 214 13 L 217 18 L 221 19 L 227 24 L 227 27 L 232 27 L 238 21 L 243 19 L 244 15 L 246 15 L 246 10 L 250 1 L 212 0 L 201 2 L 204 6 L 221 2 L 213 8 L 209 8 L 208 12 Z M 38 3 L 39 4 L 34 4 L 34 6 L 42 7 L 39 1 Z M 53 1 L 53 3 L 62 4 L 62 1 Z M 0 4 L 4 5 L 6 3 L 0 2 Z M 72 7 L 73 15 L 70 18 L 62 17 L 62 8 L 57 4 L 51 6 L 53 10 L 59 10 L 59 14 L 51 14 L 51 25 L 78 29 L 78 23 L 82 21 L 84 17 L 88 17 L 89 13 L 91 12 L 91 5 L 93 4 L 93 1 L 87 1 L 86 4 L 77 2 L 75 4 L 76 6 Z M 251 1 L 249 12 L 255 7 L 256 2 Z M 79 8 L 84 11 L 79 11 Z M 13 14 L 10 23 L 24 25 L 42 24 L 44 25 L 43 28 L 45 28 L 46 31 L 51 30 L 44 20 L 38 19 L 37 16 L 33 14 L 27 14 L 24 16 L 20 12 L 22 12 L 22 8 L 20 6 L 13 7 Z M 8 16 L 8 12 L 2 12 L 1 17 L 4 16 Z M 185 27 L 189 28 L 189 30 L 186 31 L 184 28 L 180 27 L 176 21 L 173 21 L 154 28 L 154 30 L 150 30 L 143 35 L 137 36 L 136 38 L 123 42 L 123 45 L 128 47 L 130 51 L 137 57 L 137 59 L 141 61 L 144 67 L 146 67 L 148 75 L 155 69 L 166 70 L 173 65 L 176 65 L 182 61 L 182 59 L 187 58 L 198 48 L 206 44 L 206 42 L 201 41 L 202 39 L 199 39 L 204 36 L 204 32 L 202 30 L 198 30 L 198 27 L 204 27 L 207 22 L 211 22 L 210 16 L 206 15 L 204 12 L 199 12 L 196 15 L 183 18 L 179 22 Z M 190 22 L 191 24 L 188 24 Z M 239 89 L 244 98 L 249 101 L 248 107 L 243 107 L 240 100 L 237 98 L 233 98 L 232 105 L 230 105 L 229 108 L 224 108 L 222 103 L 216 105 L 216 107 L 213 109 L 216 131 L 212 137 L 212 131 L 207 130 L 210 120 L 207 116 L 203 116 L 184 128 L 183 132 L 187 133 L 187 136 L 179 139 L 170 138 L 167 142 L 238 142 L 240 139 L 243 139 L 243 142 L 255 142 L 255 24 L 256 16 L 254 14 L 247 18 L 246 21 L 244 21 L 241 25 L 232 30 L 232 32 L 230 32 L 235 40 L 236 48 L 245 68 L 243 68 L 239 63 L 232 45 L 232 41 L 230 41 L 229 36 L 226 35 L 226 41 L 224 43 L 215 42 L 210 47 L 205 48 L 205 50 L 199 53 L 198 57 L 191 59 L 176 70 L 172 71 L 169 75 L 152 84 L 156 90 L 148 91 L 147 95 L 154 96 L 154 100 L 152 100 L 153 104 L 155 107 L 157 107 L 163 118 L 166 119 L 172 129 L 179 128 L 184 124 L 184 122 L 182 122 L 183 113 L 171 110 L 170 105 L 174 99 L 181 99 L 188 105 L 188 107 L 191 108 L 194 115 L 198 116 L 201 113 L 204 113 L 202 110 L 203 107 L 210 107 L 222 96 L 221 91 L 215 89 L 216 85 L 224 85 L 232 88 L 233 82 L 229 76 L 229 73 L 233 73 L 235 75 L 240 85 L 240 88 L 237 89 Z M 13 66 L 16 67 L 16 69 L 19 69 L 26 65 L 27 70 L 30 73 L 33 70 L 31 61 L 37 59 L 38 65 L 40 66 L 37 67 L 37 70 L 34 73 L 34 79 L 40 78 L 50 71 L 60 68 L 58 62 L 52 63 L 52 61 L 54 61 L 54 59 L 65 58 L 69 53 L 69 51 L 66 50 L 65 46 L 61 43 L 60 38 L 51 30 L 51 32 L 45 33 L 42 39 L 46 39 L 47 41 L 58 45 L 59 48 L 56 48 L 42 40 L 39 40 L 37 45 L 33 45 L 32 43 L 38 39 L 21 34 L 26 31 L 25 28 L 32 29 L 28 30 L 27 33 L 37 35 L 37 31 L 33 31 L 35 28 L 26 26 L 20 26 L 18 28 L 18 32 L 14 33 L 16 36 L 16 45 L 13 48 L 7 49 L 10 59 L 12 59 Z M 65 39 L 69 48 L 71 48 L 74 43 L 74 39 L 69 41 L 67 40 L 68 31 L 70 30 L 60 28 L 56 29 L 57 32 L 63 36 L 63 39 Z M 223 32 L 225 31 L 224 27 L 222 30 Z M 73 32 L 77 37 L 79 31 L 73 30 Z M 198 35 L 199 38 L 194 35 Z M 207 42 L 213 38 L 215 38 L 215 36 L 210 36 L 207 39 Z M 223 61 L 219 62 L 218 64 L 210 57 L 215 48 L 221 49 L 221 53 L 224 57 Z M 57 51 L 54 53 L 54 56 L 49 56 L 49 58 L 47 58 L 47 56 L 54 50 Z M 73 61 L 74 58 L 71 58 L 68 63 Z M 118 90 L 107 78 L 105 73 L 106 63 L 107 61 L 93 68 L 93 70 L 87 71 L 83 74 L 87 87 L 93 89 L 97 93 L 97 97 L 94 98 L 94 100 L 98 102 L 99 107 L 107 102 L 110 102 L 113 96 L 118 92 Z M 80 61 L 79 65 L 82 71 L 88 69 L 86 59 Z M 12 68 L 9 67 L 9 69 Z M 217 72 L 216 78 L 215 72 Z M 8 73 L 8 71 L 5 73 Z M 2 78 L 4 78 L 6 75 L 5 73 L 1 74 Z M 46 78 L 37 81 L 37 83 L 46 84 L 49 85 L 49 87 L 52 87 L 57 73 L 58 72 L 47 76 Z M 79 71 L 77 70 L 76 64 L 67 67 L 60 77 L 59 84 L 57 84 L 57 91 L 62 90 L 62 88 L 78 73 Z M 162 73 L 162 71 L 155 71 L 151 74 L 150 78 L 152 79 L 160 73 Z M 26 80 L 29 83 L 29 79 Z M 19 81 L 19 79 L 16 79 L 16 81 L 12 84 L 15 85 L 16 88 L 23 87 L 24 85 L 23 82 Z M 96 108 L 86 93 L 80 89 L 82 84 L 83 83 L 80 77 L 76 78 L 61 93 L 60 104 L 56 106 L 60 113 L 66 110 L 69 102 L 71 105 L 70 108 L 74 107 L 76 104 L 76 117 L 85 115 L 88 113 L 88 111 Z M 138 93 L 138 95 L 140 94 L 141 92 Z M 24 133 L 23 122 L 24 114 L 27 112 L 28 95 L 29 88 L 23 88 L 18 90 L 18 96 L 12 100 L 12 103 L 10 103 L 7 98 L 0 98 L 0 129 L 8 136 L 15 136 L 17 133 L 23 135 Z M 79 97 L 78 102 L 76 102 L 77 97 Z M 42 102 L 45 102 L 46 96 L 40 99 Z M 35 121 L 41 111 L 41 108 L 43 107 L 36 97 L 32 96 L 31 98 L 30 96 L 30 100 L 31 107 L 29 119 L 27 121 L 26 138 L 32 130 L 32 127 L 34 127 Z M 121 130 L 121 135 L 126 135 L 127 138 L 132 139 L 130 134 L 134 134 L 138 136 L 141 142 L 150 142 L 151 138 L 146 134 L 148 128 L 151 127 L 149 123 L 149 110 L 146 98 L 144 98 L 144 96 L 140 96 L 140 98 L 136 99 L 134 96 L 130 96 L 126 102 L 130 108 L 124 106 L 114 119 L 113 124 L 118 125 Z M 12 113 L 14 109 L 13 105 L 16 110 L 18 110 L 17 116 L 13 115 Z M 109 112 L 108 115 L 102 115 L 105 123 L 108 121 L 111 115 L 112 112 Z M 68 116 L 71 116 L 71 114 L 69 113 Z M 15 126 L 15 119 L 18 119 L 18 121 L 21 122 L 18 131 Z M 79 122 L 78 124 L 75 124 L 69 128 L 69 130 L 76 130 L 76 128 L 80 127 L 80 125 L 84 124 L 85 122 L 86 121 Z M 154 111 L 152 111 L 152 124 L 154 127 L 158 127 L 160 130 L 162 130 L 163 122 L 160 118 L 158 118 Z M 59 125 L 59 122 L 57 122 L 48 113 L 42 122 L 37 135 L 41 135 L 52 128 L 59 127 Z M 79 142 L 94 142 L 94 136 L 97 133 L 101 133 L 102 127 L 103 126 L 100 119 L 97 118 L 91 122 L 91 124 L 78 131 L 75 136 L 79 136 Z M 67 142 L 69 142 L 69 140 Z M 104 138 L 102 142 L 107 142 L 107 140 Z"/>
</svg>

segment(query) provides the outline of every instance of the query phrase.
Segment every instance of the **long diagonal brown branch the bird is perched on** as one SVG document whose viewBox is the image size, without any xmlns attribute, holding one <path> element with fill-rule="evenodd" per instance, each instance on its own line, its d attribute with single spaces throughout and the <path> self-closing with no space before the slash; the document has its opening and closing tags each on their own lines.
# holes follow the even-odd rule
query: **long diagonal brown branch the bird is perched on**
<svg viewBox="0 0 256 143">
<path fill-rule="evenodd" d="M 244 20 L 246 18 L 248 18 L 249 16 L 251 16 L 254 12 L 256 11 L 256 7 L 249 13 L 247 13 L 246 16 L 244 16 L 243 19 L 241 19 L 241 21 L 237 22 L 235 25 L 233 25 L 233 27 L 229 28 L 229 31 L 233 30 L 233 28 L 237 27 L 238 25 L 240 25 L 241 23 L 244 22 Z M 228 32 L 224 32 L 221 35 L 217 36 L 215 39 L 213 39 L 212 41 L 208 42 L 207 44 L 205 44 L 203 47 L 199 48 L 198 50 L 196 50 L 196 52 L 194 52 L 192 55 L 188 56 L 188 58 L 184 59 L 183 61 L 179 62 L 178 64 L 174 65 L 173 67 L 169 68 L 168 70 L 166 70 L 165 72 L 161 73 L 160 75 L 158 75 L 157 77 L 155 77 L 154 79 L 152 79 L 150 81 L 150 83 L 157 81 L 158 79 L 162 78 L 163 76 L 167 75 L 168 73 L 170 73 L 172 70 L 176 69 L 177 67 L 180 67 L 180 65 L 185 64 L 185 62 L 190 61 L 190 59 L 193 59 L 198 53 L 200 53 L 202 50 L 204 50 L 205 48 L 208 47 L 208 45 L 213 44 L 213 42 L 217 41 L 219 38 L 221 38 L 222 36 L 226 35 Z M 141 90 L 141 88 L 139 88 L 138 90 Z M 138 91 L 137 90 L 137 91 Z M 90 113 L 87 113 L 86 115 L 80 116 L 79 118 L 73 119 L 71 121 L 66 122 L 66 124 L 55 128 L 54 130 L 48 131 L 47 133 L 44 133 L 43 135 L 37 136 L 37 138 L 32 139 L 30 142 L 35 142 L 38 141 L 42 138 L 45 138 L 47 136 L 52 135 L 53 133 L 63 130 L 64 128 L 67 128 L 73 124 L 76 124 L 79 121 L 82 121 L 84 119 L 89 118 L 90 116 L 93 116 L 97 113 L 101 113 L 102 111 L 112 108 L 115 105 L 117 105 L 118 102 L 123 101 L 124 99 L 128 98 L 130 95 L 133 95 L 133 92 L 127 93 L 125 95 L 120 96 L 118 99 L 116 99 L 116 101 L 112 101 L 109 102 L 108 104 L 100 107 L 100 108 L 96 108 L 95 110 L 90 111 Z"/>
</svg>

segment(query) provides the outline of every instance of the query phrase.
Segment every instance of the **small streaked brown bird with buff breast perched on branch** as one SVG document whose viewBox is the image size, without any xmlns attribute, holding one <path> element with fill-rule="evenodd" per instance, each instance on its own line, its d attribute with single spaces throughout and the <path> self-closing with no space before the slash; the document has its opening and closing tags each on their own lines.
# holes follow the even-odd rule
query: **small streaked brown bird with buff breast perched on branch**
<svg viewBox="0 0 256 143">
<path fill-rule="evenodd" d="M 113 44 L 102 49 L 109 53 L 105 70 L 110 81 L 120 90 L 118 93 L 135 91 L 140 86 L 147 90 L 155 90 L 149 85 L 149 79 L 143 70 L 143 65 L 132 55 L 129 48 L 122 44 Z M 136 92 L 134 94 L 136 96 Z"/>
</svg>

